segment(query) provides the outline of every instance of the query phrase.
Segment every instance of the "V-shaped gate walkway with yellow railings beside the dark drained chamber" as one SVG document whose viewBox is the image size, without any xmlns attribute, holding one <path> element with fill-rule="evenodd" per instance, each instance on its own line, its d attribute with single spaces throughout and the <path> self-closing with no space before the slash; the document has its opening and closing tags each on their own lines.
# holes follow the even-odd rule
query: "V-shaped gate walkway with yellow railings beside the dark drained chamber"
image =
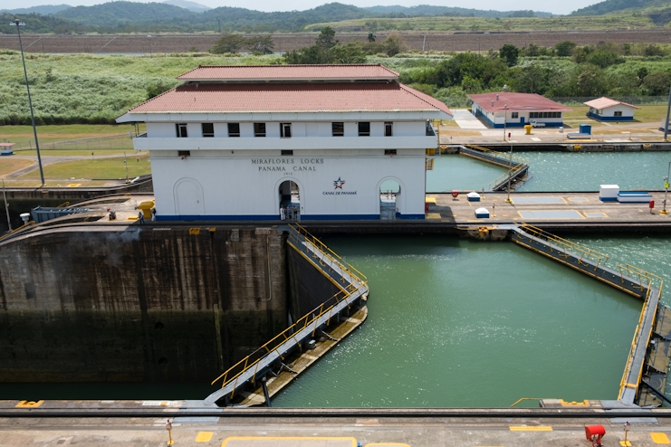
<svg viewBox="0 0 671 447">
<path fill-rule="evenodd" d="M 283 361 L 292 350 L 302 346 L 302 342 L 314 337 L 317 329 L 328 325 L 332 318 L 349 309 L 357 300 L 365 299 L 369 289 L 363 276 L 300 225 L 289 225 L 289 245 L 301 252 L 312 265 L 321 270 L 338 285 L 340 292 L 325 300 L 317 309 L 299 319 L 290 328 L 260 347 L 250 356 L 218 376 L 214 385 L 223 379 L 222 388 L 208 395 L 206 404 L 216 404 L 221 399 L 228 400 L 248 384 L 255 384 L 257 376 L 264 376 L 271 367 Z M 361 276 L 363 280 L 359 278 Z"/>
</svg>

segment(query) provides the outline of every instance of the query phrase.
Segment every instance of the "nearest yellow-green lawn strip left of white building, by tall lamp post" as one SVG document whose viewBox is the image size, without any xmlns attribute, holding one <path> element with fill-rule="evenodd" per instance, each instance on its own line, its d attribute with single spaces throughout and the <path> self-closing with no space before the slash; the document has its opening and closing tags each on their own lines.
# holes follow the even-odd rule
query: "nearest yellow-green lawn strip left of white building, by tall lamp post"
<svg viewBox="0 0 671 447">
<path fill-rule="evenodd" d="M 136 161 L 135 158 L 129 158 L 129 177 L 142 176 L 151 173 L 149 157 L 142 156 Z M 21 180 L 40 178 L 37 169 L 19 177 Z M 44 166 L 44 178 L 50 180 L 64 179 L 118 179 L 126 178 L 126 166 L 123 157 L 85 159 L 74 161 L 63 161 L 53 165 Z"/>
</svg>

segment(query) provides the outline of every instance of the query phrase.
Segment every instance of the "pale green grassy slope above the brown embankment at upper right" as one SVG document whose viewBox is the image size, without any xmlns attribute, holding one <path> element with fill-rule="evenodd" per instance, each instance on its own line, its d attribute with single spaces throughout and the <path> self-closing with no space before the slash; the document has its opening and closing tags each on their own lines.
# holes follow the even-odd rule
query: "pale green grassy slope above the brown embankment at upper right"
<svg viewBox="0 0 671 447">
<path fill-rule="evenodd" d="M 558 17 L 408 17 L 353 19 L 341 22 L 311 24 L 306 31 L 320 31 L 331 26 L 346 31 L 578 31 L 604 29 L 652 29 L 657 26 L 646 15 L 633 13 L 575 15 Z"/>
</svg>

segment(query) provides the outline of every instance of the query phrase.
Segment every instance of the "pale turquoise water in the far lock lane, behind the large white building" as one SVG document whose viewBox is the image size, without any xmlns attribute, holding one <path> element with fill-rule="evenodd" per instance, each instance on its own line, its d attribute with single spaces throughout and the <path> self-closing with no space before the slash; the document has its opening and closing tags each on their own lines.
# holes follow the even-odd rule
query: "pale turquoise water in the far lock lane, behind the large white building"
<svg viewBox="0 0 671 447">
<path fill-rule="evenodd" d="M 664 189 L 669 152 L 518 152 L 530 166 L 531 178 L 518 191 L 599 191 L 599 185 L 619 185 L 620 189 Z M 481 190 L 507 172 L 460 155 L 436 158 L 427 171 L 427 192 L 452 189 Z"/>
</svg>

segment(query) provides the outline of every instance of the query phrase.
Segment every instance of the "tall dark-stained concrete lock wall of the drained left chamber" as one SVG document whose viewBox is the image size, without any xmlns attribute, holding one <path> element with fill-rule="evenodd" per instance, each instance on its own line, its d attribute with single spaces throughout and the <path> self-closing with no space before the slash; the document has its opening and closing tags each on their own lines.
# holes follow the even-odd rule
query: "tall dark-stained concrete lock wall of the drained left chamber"
<svg viewBox="0 0 671 447">
<path fill-rule="evenodd" d="M 208 382 L 286 328 L 275 229 L 96 230 L 0 244 L 0 380 Z"/>
</svg>

